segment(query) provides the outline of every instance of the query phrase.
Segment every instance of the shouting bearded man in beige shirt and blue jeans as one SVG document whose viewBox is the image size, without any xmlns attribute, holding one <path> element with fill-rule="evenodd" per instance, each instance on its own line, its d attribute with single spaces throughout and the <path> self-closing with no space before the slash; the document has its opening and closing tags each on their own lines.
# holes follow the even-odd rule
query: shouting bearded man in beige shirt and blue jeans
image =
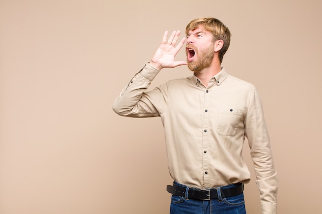
<svg viewBox="0 0 322 214">
<path fill-rule="evenodd" d="M 160 116 L 174 182 L 170 213 L 246 213 L 243 184 L 250 173 L 242 158 L 245 137 L 260 190 L 262 213 L 276 213 L 277 178 L 256 88 L 221 67 L 229 29 L 216 18 L 197 18 L 168 37 L 115 100 L 116 113 Z M 187 61 L 175 61 L 186 43 Z M 147 91 L 163 68 L 188 65 L 193 76 Z"/>
</svg>

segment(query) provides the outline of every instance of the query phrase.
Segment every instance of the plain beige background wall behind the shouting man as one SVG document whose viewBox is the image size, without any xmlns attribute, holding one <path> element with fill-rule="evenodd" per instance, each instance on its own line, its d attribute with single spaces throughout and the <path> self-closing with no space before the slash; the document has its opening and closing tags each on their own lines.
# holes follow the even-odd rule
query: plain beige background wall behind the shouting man
<svg viewBox="0 0 322 214">
<path fill-rule="evenodd" d="M 122 118 L 112 103 L 165 30 L 184 31 L 200 16 L 229 27 L 223 66 L 260 92 L 279 173 L 278 212 L 318 213 L 321 6 L 1 0 L 0 214 L 168 213 L 160 119 Z M 164 70 L 152 86 L 187 75 L 184 67 Z M 248 213 L 259 213 L 254 175 L 245 197 Z"/>
</svg>

